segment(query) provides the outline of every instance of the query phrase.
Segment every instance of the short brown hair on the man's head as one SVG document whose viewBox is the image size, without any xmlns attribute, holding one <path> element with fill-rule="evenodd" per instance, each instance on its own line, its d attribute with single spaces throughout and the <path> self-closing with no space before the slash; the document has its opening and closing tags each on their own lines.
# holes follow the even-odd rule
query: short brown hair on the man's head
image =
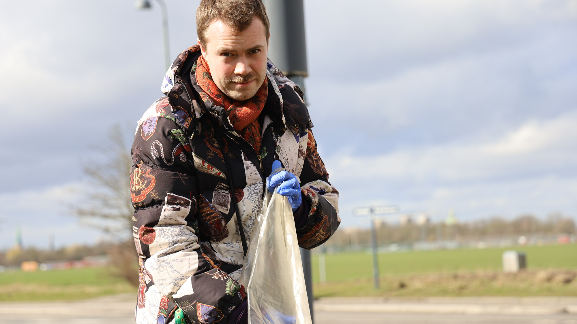
<svg viewBox="0 0 577 324">
<path fill-rule="evenodd" d="M 235 31 L 242 32 L 250 26 L 254 16 L 263 22 L 268 44 L 271 24 L 262 0 L 201 0 L 196 10 L 198 40 L 204 47 L 207 42 L 206 31 L 214 20 L 220 20 Z"/>
</svg>

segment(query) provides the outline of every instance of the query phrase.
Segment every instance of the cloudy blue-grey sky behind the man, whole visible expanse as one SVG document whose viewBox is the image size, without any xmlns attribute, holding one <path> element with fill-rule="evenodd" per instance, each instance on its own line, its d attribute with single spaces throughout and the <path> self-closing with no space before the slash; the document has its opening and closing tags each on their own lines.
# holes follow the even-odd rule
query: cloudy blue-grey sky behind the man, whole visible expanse
<svg viewBox="0 0 577 324">
<path fill-rule="evenodd" d="M 198 1 L 166 2 L 176 56 L 196 43 Z M 0 248 L 18 226 L 25 246 L 103 236 L 66 204 L 83 203 L 91 146 L 161 95 L 155 5 L 0 0 Z M 577 216 L 576 0 L 305 0 L 305 16 L 306 95 L 343 226 L 388 204 Z"/>
</svg>

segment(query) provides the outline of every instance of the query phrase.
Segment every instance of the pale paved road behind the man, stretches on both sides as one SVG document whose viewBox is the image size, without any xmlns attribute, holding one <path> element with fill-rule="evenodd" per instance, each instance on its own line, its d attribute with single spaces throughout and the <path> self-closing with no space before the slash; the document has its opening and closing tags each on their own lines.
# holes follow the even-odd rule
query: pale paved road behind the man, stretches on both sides
<svg viewBox="0 0 577 324">
<path fill-rule="evenodd" d="M 0 324 L 134 323 L 133 293 L 80 302 L 0 302 Z M 315 324 L 577 324 L 576 297 L 333 297 Z"/>
</svg>

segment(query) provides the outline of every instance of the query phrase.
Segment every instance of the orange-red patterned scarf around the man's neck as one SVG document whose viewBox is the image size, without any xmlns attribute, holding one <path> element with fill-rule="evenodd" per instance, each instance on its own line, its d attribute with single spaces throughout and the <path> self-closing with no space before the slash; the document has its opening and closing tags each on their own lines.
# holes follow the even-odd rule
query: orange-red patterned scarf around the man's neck
<svg viewBox="0 0 577 324">
<path fill-rule="evenodd" d="M 211 70 L 208 67 L 207 61 L 204 60 L 203 55 L 198 57 L 196 64 L 196 82 L 198 82 L 200 88 L 204 90 L 213 103 L 226 110 L 228 119 L 230 119 L 230 122 L 233 124 L 234 130 L 238 131 L 241 136 L 252 145 L 257 154 L 260 154 L 261 128 L 257 119 L 267 101 L 267 78 L 264 79 L 263 85 L 258 89 L 256 95 L 245 103 L 240 103 L 224 95 L 218 86 L 216 86 L 215 82 L 212 81 Z"/>
</svg>

